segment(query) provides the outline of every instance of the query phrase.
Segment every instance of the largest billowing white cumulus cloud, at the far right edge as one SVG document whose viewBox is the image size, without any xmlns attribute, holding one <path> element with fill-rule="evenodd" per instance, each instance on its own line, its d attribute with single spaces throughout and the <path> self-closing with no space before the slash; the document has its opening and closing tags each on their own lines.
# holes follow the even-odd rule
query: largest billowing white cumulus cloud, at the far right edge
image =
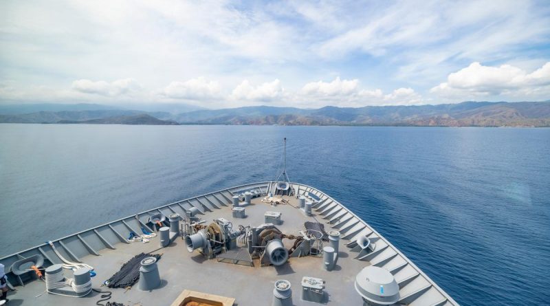
<svg viewBox="0 0 550 306">
<path fill-rule="evenodd" d="M 490 67 L 474 62 L 449 74 L 447 82 L 432 87 L 430 92 L 443 97 L 529 96 L 549 86 L 550 62 L 531 73 L 512 65 Z"/>
</svg>

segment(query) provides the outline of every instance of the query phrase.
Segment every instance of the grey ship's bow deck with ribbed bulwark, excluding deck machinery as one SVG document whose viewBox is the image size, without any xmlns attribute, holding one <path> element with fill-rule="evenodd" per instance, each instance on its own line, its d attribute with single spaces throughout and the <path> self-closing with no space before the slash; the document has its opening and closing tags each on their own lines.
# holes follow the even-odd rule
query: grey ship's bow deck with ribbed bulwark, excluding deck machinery
<svg viewBox="0 0 550 306">
<path fill-rule="evenodd" d="M 309 186 L 299 184 L 293 184 L 293 186 L 300 195 L 311 193 L 311 197 L 318 199 L 312 217 L 306 217 L 297 208 L 296 197 L 285 197 L 289 199 L 289 204 L 276 207 L 263 203 L 262 197 L 255 197 L 252 204 L 245 208 L 248 217 L 234 219 L 230 205 L 231 196 L 240 194 L 244 190 L 258 190 L 265 193 L 267 188 L 272 188 L 270 182 L 265 182 L 179 201 L 59 239 L 54 243 L 67 259 L 92 265 L 97 273 L 97 276 L 92 278 L 94 288 L 113 292 L 110 301 L 126 305 L 136 303 L 137 305 L 170 305 L 184 289 L 232 297 L 236 299 L 235 305 L 239 306 L 270 305 L 274 282 L 279 279 L 285 279 L 292 284 L 294 305 L 317 305 L 300 300 L 300 283 L 303 276 L 313 276 L 326 281 L 325 290 L 329 295 L 327 305 L 362 305 L 362 298 L 355 292 L 353 284 L 355 276 L 367 265 L 384 267 L 394 274 L 400 287 L 401 298 L 398 302 L 400 305 L 458 305 L 391 243 L 336 200 Z M 189 253 L 181 237 L 167 248 L 161 249 L 159 249 L 159 237 L 152 238 L 148 243 L 123 241 L 129 234 L 130 228 L 134 232 L 140 232 L 138 229 L 144 225 L 144 218 L 149 213 L 160 211 L 165 215 L 173 212 L 185 215 L 185 210 L 190 207 L 199 208 L 203 212 L 199 217 L 208 222 L 223 217 L 232 221 L 235 226 L 239 224 L 258 226 L 264 223 L 264 212 L 281 212 L 283 224 L 277 227 L 285 234 L 298 234 L 299 230 L 305 230 L 305 221 L 325 223 L 325 230 L 335 228 L 341 232 L 337 266 L 333 271 L 328 272 L 322 268 L 322 258 L 305 256 L 289 258 L 289 262 L 280 267 L 261 267 L 257 261 L 254 267 L 250 267 L 219 262 L 217 259 L 205 259 L 198 251 Z M 375 238 L 373 241 L 376 241 L 377 247 L 371 256 L 359 260 L 355 259 L 357 253 L 352 252 L 345 244 L 362 234 Z M 284 239 L 283 242 L 287 248 L 290 248 L 293 241 Z M 52 251 L 49 245 L 40 245 L 19 254 L 4 257 L 0 262 L 4 263 L 8 269 L 11 263 L 22 257 L 43 254 L 46 259 L 45 265 L 61 263 Z M 162 279 L 161 287 L 151 292 L 142 292 L 137 285 L 127 291 L 100 287 L 102 281 L 117 272 L 123 263 L 141 252 L 162 253 L 162 259 L 157 263 Z M 10 276 L 10 283 L 17 285 L 13 275 L 8 273 L 8 276 Z M 17 291 L 10 292 L 8 295 L 9 306 L 96 305 L 100 295 L 92 292 L 83 298 L 54 294 L 42 294 L 36 297 L 45 291 L 45 284 L 42 281 L 26 281 L 25 287 L 17 285 L 15 288 Z"/>
</svg>

